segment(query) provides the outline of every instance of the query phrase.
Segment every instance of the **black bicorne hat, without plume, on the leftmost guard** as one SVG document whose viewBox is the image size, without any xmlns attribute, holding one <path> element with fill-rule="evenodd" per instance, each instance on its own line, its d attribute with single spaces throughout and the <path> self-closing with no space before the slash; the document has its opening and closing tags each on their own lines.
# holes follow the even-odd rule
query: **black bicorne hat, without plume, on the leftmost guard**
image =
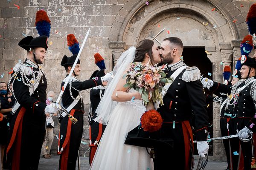
<svg viewBox="0 0 256 170">
<path fill-rule="evenodd" d="M 39 37 L 33 38 L 32 36 L 27 36 L 20 40 L 18 45 L 24 48 L 26 51 L 30 51 L 32 48 L 42 47 L 47 51 L 48 48 L 48 37 L 41 35 Z"/>
</svg>

